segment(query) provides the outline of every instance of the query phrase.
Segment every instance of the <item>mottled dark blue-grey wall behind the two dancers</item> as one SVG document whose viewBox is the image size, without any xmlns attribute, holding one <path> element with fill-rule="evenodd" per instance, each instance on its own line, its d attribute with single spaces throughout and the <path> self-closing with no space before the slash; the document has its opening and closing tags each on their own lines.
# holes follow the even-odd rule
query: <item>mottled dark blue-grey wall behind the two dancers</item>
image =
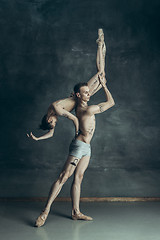
<svg viewBox="0 0 160 240">
<path fill-rule="evenodd" d="M 96 73 L 97 29 L 107 44 L 116 105 L 96 117 L 82 196 L 160 197 L 160 2 L 0 1 L 0 197 L 46 196 L 74 135 L 60 118 L 53 138 L 34 142 L 49 104 Z M 91 103 L 104 100 L 98 92 Z M 60 196 L 69 196 L 71 179 Z"/>
</svg>

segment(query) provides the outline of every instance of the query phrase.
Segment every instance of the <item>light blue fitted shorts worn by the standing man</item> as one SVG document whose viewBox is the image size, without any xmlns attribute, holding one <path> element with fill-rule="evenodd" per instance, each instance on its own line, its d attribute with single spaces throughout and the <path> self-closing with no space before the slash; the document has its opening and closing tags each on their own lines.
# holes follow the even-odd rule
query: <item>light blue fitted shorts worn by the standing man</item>
<svg viewBox="0 0 160 240">
<path fill-rule="evenodd" d="M 69 146 L 69 155 L 81 159 L 84 156 L 91 156 L 91 146 L 78 139 L 73 139 Z"/>
</svg>

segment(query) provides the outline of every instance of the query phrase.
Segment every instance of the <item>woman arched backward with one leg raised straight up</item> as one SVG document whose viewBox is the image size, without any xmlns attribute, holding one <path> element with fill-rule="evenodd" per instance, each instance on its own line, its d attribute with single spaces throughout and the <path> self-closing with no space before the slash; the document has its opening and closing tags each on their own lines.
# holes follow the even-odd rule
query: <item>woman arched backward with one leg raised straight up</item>
<svg viewBox="0 0 160 240">
<path fill-rule="evenodd" d="M 106 55 L 106 46 L 104 42 L 104 33 L 102 29 L 98 29 L 98 39 L 97 39 L 98 49 L 97 49 L 97 74 L 94 75 L 89 81 L 88 81 L 88 87 L 90 90 L 90 95 L 94 95 L 99 89 L 101 89 L 101 84 L 98 80 L 98 75 L 103 74 L 105 76 L 105 55 Z M 53 136 L 54 129 L 57 123 L 57 116 L 64 116 L 70 120 L 73 121 L 75 125 L 75 135 L 78 135 L 79 131 L 79 122 L 75 115 L 70 113 L 76 106 L 76 99 L 74 97 L 74 94 L 70 96 L 69 98 L 57 100 L 56 102 L 53 102 L 47 111 L 47 114 L 44 115 L 42 118 L 42 122 L 40 125 L 40 128 L 43 130 L 49 130 L 46 134 L 44 134 L 41 137 L 36 137 L 31 132 L 30 134 L 27 134 L 28 137 L 31 137 L 32 139 L 38 141 L 47 139 Z"/>
</svg>

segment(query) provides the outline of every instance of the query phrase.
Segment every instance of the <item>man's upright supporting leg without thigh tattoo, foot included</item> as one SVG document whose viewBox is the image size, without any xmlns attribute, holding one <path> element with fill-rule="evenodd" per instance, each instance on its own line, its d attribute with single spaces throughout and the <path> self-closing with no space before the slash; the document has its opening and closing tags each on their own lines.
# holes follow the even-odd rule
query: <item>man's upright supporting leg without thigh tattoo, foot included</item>
<svg viewBox="0 0 160 240">
<path fill-rule="evenodd" d="M 90 156 L 85 156 L 79 161 L 74 174 L 74 180 L 71 188 L 72 197 L 72 219 L 74 220 L 92 220 L 91 217 L 86 216 L 80 212 L 79 202 L 81 193 L 81 183 L 84 176 L 84 172 L 88 167 Z"/>
</svg>

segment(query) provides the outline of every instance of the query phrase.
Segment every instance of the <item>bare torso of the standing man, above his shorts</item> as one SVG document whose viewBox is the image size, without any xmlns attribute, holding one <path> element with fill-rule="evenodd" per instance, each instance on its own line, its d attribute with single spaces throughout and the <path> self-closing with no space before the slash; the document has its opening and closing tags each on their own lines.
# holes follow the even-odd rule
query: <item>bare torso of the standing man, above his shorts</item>
<svg viewBox="0 0 160 240">
<path fill-rule="evenodd" d="M 95 115 L 90 115 L 88 109 L 89 106 L 79 106 L 76 109 L 80 129 L 77 139 L 85 143 L 90 143 L 95 131 Z"/>
</svg>

